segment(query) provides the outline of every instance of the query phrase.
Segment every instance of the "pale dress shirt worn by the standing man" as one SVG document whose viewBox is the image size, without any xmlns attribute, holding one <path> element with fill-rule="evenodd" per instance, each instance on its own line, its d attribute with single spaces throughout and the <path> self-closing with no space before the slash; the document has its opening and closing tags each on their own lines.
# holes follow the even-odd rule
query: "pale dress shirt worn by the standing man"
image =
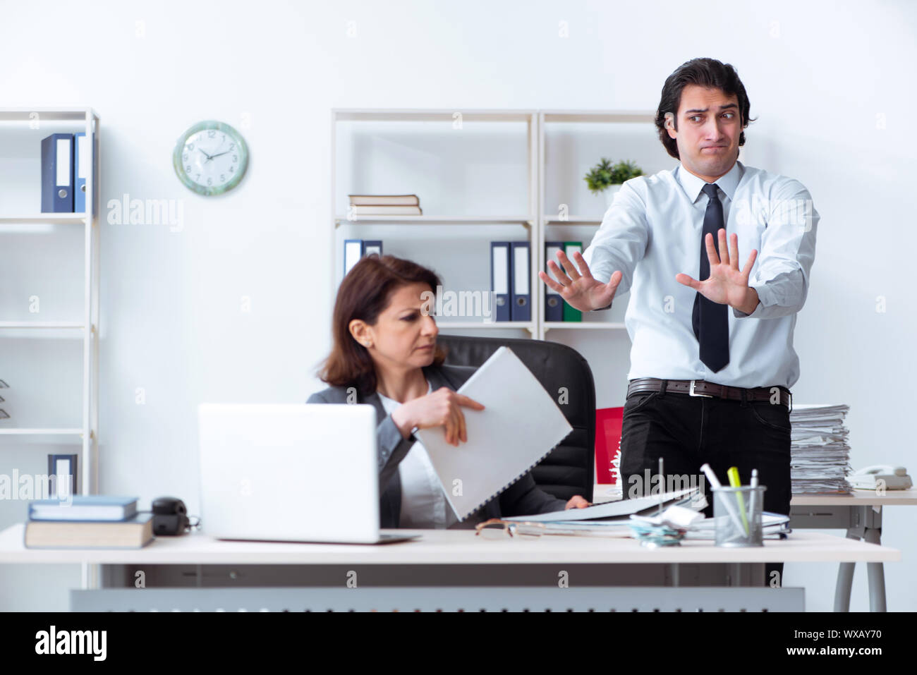
<svg viewBox="0 0 917 675">
<path fill-rule="evenodd" d="M 615 294 L 631 292 L 624 315 L 632 343 L 628 380 L 789 388 L 800 374 L 793 328 L 809 290 L 818 212 L 799 181 L 738 160 L 715 183 L 727 243 L 734 232 L 738 235 L 740 270 L 757 249 L 748 285 L 759 300 L 750 315 L 735 308 L 727 312 L 729 363 L 722 370 L 711 371 L 700 357 L 691 327 L 697 292 L 675 281 L 679 272 L 700 276 L 708 202 L 701 178 L 679 163 L 672 171 L 624 183 L 583 258 L 601 282 L 620 270 L 623 278 Z M 714 246 L 718 249 L 715 241 Z"/>
</svg>

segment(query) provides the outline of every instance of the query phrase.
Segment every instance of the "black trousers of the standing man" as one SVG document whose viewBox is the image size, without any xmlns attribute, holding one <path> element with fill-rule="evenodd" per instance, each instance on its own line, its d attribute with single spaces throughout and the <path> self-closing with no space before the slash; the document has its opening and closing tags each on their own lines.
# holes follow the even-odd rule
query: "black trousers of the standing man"
<svg viewBox="0 0 917 675">
<path fill-rule="evenodd" d="M 635 393 L 624 404 L 621 432 L 624 499 L 658 490 L 653 477 L 660 457 L 667 490 L 688 487 L 691 481 L 703 485 L 707 517 L 713 516 L 713 493 L 706 478 L 701 480 L 704 463 L 724 485 L 729 484 L 729 467 L 738 468 L 743 485 L 757 469 L 758 484 L 767 487 L 764 510 L 790 514 L 790 411 L 783 405 L 687 393 Z M 783 563 L 768 563 L 765 570 L 766 585 L 783 585 Z"/>
</svg>

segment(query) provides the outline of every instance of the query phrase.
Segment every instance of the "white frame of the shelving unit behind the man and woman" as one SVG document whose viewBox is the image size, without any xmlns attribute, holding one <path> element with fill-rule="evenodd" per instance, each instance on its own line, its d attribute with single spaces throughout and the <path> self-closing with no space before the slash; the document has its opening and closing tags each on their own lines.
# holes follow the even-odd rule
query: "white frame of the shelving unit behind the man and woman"
<svg viewBox="0 0 917 675">
<path fill-rule="evenodd" d="M 535 216 L 354 216 L 348 218 L 340 215 L 337 194 L 337 127 L 342 121 L 398 121 L 398 122 L 451 122 L 458 113 L 463 121 L 515 121 L 525 122 L 527 127 L 527 201 L 531 214 Z M 539 270 L 545 269 L 545 241 L 548 227 L 558 225 L 598 228 L 602 224 L 602 214 L 560 216 L 548 214 L 545 205 L 545 186 L 547 180 L 545 130 L 552 122 L 565 123 L 628 123 L 653 125 L 655 113 L 651 111 L 601 111 L 601 110 L 471 110 L 453 109 L 333 109 L 331 111 L 331 213 L 334 216 L 334 227 L 337 230 L 347 225 L 396 225 L 396 226 L 444 226 L 470 225 L 475 227 L 487 225 L 519 225 L 525 228 L 525 236 L 531 242 L 532 270 L 530 289 L 532 290 L 532 317 L 529 322 L 470 322 L 437 321 L 440 330 L 448 329 L 516 329 L 527 331 L 532 338 L 547 339 L 548 331 L 569 330 L 623 330 L 624 323 L 617 321 L 582 321 L 582 322 L 548 322 L 544 320 L 544 284 L 538 278 Z M 350 186 L 348 186 L 349 188 Z M 349 190 L 348 190 L 349 191 Z M 421 195 L 423 196 L 423 195 Z M 422 204 L 423 205 L 423 204 Z M 367 236 L 365 238 L 372 238 Z M 337 293 L 337 285 L 342 276 L 342 255 L 337 237 L 332 237 L 332 293 Z M 583 241 L 583 249 L 588 241 Z M 553 338 L 553 336 L 552 336 Z"/>
</svg>

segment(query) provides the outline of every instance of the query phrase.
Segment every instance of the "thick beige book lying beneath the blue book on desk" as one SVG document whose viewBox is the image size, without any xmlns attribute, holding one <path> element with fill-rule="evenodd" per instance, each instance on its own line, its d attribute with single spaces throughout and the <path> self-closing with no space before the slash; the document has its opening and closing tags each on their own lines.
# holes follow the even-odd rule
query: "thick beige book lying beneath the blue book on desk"
<svg viewBox="0 0 917 675">
<path fill-rule="evenodd" d="M 30 520 L 26 548 L 143 548 L 153 539 L 153 515 L 120 521 Z"/>
</svg>

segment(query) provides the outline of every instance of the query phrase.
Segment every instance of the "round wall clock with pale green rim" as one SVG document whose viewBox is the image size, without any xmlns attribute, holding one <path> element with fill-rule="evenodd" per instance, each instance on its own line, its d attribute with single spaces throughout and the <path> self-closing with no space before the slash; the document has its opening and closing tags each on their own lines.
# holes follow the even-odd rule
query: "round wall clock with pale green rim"
<svg viewBox="0 0 917 675">
<path fill-rule="evenodd" d="M 179 180 L 195 193 L 223 194 L 236 187 L 249 164 L 241 135 L 222 122 L 201 122 L 182 134 L 172 152 Z"/>
</svg>

